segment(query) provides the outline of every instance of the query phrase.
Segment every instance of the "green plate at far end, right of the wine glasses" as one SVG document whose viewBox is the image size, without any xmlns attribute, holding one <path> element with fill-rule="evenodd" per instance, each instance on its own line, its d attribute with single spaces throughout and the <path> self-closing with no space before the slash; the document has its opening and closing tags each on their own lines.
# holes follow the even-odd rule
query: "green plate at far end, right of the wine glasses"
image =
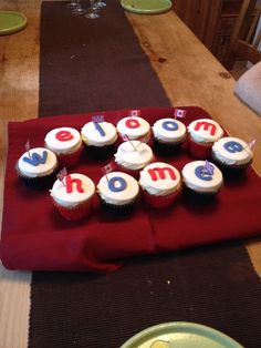
<svg viewBox="0 0 261 348">
<path fill-rule="evenodd" d="M 125 10 L 140 14 L 163 13 L 173 7 L 170 0 L 122 0 L 121 4 Z"/>
</svg>

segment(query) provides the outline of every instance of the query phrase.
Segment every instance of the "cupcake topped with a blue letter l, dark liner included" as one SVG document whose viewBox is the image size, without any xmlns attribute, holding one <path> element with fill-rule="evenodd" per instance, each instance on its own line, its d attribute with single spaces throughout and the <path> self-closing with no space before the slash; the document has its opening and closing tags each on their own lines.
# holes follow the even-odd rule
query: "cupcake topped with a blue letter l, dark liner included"
<svg viewBox="0 0 261 348">
<path fill-rule="evenodd" d="M 88 122 L 81 131 L 87 153 L 107 157 L 115 152 L 117 142 L 116 127 L 108 122 Z"/>
</svg>

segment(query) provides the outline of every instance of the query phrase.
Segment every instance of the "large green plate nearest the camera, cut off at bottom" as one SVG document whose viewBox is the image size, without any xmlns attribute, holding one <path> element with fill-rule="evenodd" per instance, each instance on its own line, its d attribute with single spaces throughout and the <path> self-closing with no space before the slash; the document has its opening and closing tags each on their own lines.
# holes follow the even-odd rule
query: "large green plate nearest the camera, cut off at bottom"
<svg viewBox="0 0 261 348">
<path fill-rule="evenodd" d="M 243 348 L 229 336 L 195 323 L 166 323 L 133 336 L 121 348 Z"/>
</svg>

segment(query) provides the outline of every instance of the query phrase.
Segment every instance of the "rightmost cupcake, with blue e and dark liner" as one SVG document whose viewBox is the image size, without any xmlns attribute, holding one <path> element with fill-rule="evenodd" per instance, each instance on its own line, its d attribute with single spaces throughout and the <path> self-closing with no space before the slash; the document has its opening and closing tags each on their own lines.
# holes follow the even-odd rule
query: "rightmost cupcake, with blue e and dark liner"
<svg viewBox="0 0 261 348">
<path fill-rule="evenodd" d="M 241 176 L 252 163 L 250 146 L 238 137 L 226 136 L 212 146 L 212 158 L 226 178 Z"/>
</svg>

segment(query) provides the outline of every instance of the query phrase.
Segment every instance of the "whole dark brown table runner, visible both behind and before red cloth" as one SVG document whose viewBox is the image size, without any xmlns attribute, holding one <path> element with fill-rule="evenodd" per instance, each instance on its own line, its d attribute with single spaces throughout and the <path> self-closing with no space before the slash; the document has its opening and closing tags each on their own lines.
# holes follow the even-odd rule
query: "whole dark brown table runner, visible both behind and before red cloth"
<svg viewBox="0 0 261 348">
<path fill-rule="evenodd" d="M 40 116 L 169 105 L 116 0 L 96 21 L 44 2 L 40 63 Z M 33 273 L 30 348 L 116 348 L 176 320 L 261 346 L 261 284 L 240 243 L 136 257 L 107 275 Z"/>
</svg>

